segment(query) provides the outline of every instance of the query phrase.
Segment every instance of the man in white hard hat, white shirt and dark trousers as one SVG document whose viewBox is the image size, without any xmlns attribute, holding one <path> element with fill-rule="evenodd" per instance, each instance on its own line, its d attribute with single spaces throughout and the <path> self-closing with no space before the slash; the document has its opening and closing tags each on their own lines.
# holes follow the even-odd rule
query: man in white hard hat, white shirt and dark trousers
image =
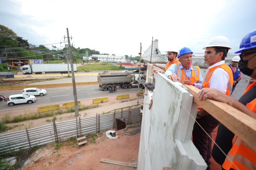
<svg viewBox="0 0 256 170">
<path fill-rule="evenodd" d="M 230 41 L 224 36 L 213 37 L 204 47 L 204 63 L 208 64 L 208 71 L 205 75 L 202 88 L 216 88 L 220 92 L 230 95 L 233 86 L 233 74 L 230 67 L 225 64 L 225 57 L 231 49 Z M 200 109 L 201 108 L 201 109 Z M 202 107 L 196 115 L 196 122 L 192 131 L 193 143 L 207 164 L 207 169 L 211 169 L 212 151 L 212 131 L 219 125 L 219 121 L 209 115 Z M 201 126 L 201 127 L 200 127 Z M 204 130 L 208 135 L 205 134 Z"/>
</svg>

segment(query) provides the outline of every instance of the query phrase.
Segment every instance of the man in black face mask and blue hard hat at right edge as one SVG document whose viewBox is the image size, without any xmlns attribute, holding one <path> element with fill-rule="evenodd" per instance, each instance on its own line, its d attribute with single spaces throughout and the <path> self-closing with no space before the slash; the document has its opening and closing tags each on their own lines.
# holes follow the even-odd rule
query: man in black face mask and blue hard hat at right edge
<svg viewBox="0 0 256 170">
<path fill-rule="evenodd" d="M 250 31 L 244 36 L 240 43 L 239 51 L 235 53 L 241 53 L 238 68 L 241 72 L 252 79 L 256 79 L 256 29 Z M 256 119 L 256 81 L 251 82 L 250 85 L 242 97 L 237 101 L 227 95 L 224 95 L 220 91 L 212 88 L 202 89 L 198 92 L 200 99 L 214 99 L 224 102 L 246 115 L 249 115 Z M 232 122 L 231 122 L 232 123 Z M 249 132 L 245 132 L 249 133 Z M 256 169 L 256 152 L 252 150 L 240 137 L 229 137 L 233 134 L 224 125 L 218 128 L 218 133 L 215 142 L 220 146 L 221 150 L 225 152 L 228 159 L 225 159 L 225 155 L 215 145 L 212 150 L 212 157 L 216 162 L 222 165 L 222 169 Z M 233 142 L 232 142 L 233 139 Z M 224 162 L 224 163 L 223 163 Z"/>
</svg>

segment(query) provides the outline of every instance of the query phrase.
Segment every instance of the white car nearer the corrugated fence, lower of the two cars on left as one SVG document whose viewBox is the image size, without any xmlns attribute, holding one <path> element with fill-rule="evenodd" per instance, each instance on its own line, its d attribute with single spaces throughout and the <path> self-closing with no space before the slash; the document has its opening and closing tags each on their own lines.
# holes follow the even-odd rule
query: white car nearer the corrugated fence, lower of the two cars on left
<svg viewBox="0 0 256 170">
<path fill-rule="evenodd" d="M 33 102 L 36 101 L 36 97 L 35 96 L 30 96 L 28 94 L 14 94 L 9 96 L 9 100 L 7 101 L 7 104 L 9 106 L 13 106 L 15 104 L 19 104 L 19 103 L 28 103 L 31 104 Z"/>
</svg>

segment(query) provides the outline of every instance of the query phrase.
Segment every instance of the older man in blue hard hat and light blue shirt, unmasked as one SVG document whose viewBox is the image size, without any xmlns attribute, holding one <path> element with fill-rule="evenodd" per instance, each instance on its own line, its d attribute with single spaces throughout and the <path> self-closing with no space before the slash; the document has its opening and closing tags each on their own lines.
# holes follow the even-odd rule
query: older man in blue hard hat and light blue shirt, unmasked
<svg viewBox="0 0 256 170">
<path fill-rule="evenodd" d="M 183 47 L 178 52 L 178 59 L 180 63 L 172 64 L 165 72 L 165 76 L 172 81 L 179 81 L 185 85 L 194 85 L 197 88 L 202 87 L 203 78 L 201 76 L 200 68 L 192 64 L 193 52 Z"/>
</svg>

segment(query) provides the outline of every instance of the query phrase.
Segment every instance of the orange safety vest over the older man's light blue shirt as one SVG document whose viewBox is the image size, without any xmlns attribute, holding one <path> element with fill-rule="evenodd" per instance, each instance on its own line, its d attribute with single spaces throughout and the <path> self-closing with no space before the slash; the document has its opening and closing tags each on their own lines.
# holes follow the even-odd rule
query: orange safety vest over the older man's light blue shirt
<svg viewBox="0 0 256 170">
<path fill-rule="evenodd" d="M 188 80 L 185 71 L 183 69 L 179 69 L 180 63 L 176 64 L 176 67 L 177 67 L 176 75 L 177 75 L 178 78 L 180 78 L 179 82 L 183 83 L 184 79 Z M 191 65 L 190 67 L 193 68 L 193 70 L 191 69 L 190 81 L 192 83 L 198 83 L 199 80 L 200 80 L 200 78 L 199 78 L 199 76 L 200 76 L 200 68 L 199 68 L 199 66 L 193 66 L 193 65 Z"/>
</svg>

